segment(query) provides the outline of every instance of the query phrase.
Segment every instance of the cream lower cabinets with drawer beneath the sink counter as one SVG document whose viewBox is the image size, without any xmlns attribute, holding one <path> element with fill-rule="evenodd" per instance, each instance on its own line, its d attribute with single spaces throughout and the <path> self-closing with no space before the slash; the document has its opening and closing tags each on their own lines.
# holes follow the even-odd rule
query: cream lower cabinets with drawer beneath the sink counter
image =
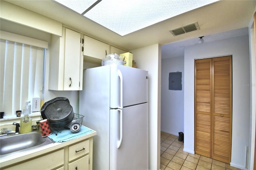
<svg viewBox="0 0 256 170">
<path fill-rule="evenodd" d="M 1 170 L 92 170 L 93 138 L 87 138 L 34 158 L 17 162 Z"/>
</svg>

